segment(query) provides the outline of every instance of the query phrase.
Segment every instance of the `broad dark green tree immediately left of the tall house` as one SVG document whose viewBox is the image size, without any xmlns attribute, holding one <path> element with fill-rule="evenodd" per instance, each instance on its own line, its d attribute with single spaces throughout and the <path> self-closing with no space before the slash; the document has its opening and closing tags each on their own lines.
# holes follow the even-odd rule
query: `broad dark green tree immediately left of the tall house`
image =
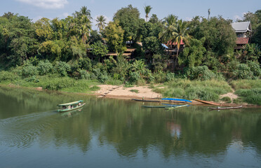
<svg viewBox="0 0 261 168">
<path fill-rule="evenodd" d="M 191 36 L 201 40 L 206 50 L 215 53 L 217 59 L 222 55 L 232 54 L 236 45 L 236 34 L 231 25 L 231 20 L 225 20 L 221 16 L 206 18 L 194 18 L 188 24 Z"/>
</svg>

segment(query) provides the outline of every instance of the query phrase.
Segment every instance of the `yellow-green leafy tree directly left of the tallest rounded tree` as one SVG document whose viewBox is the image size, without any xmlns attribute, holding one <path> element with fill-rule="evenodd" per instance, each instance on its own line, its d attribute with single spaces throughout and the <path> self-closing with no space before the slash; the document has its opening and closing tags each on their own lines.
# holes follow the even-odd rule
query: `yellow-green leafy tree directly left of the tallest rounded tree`
<svg viewBox="0 0 261 168">
<path fill-rule="evenodd" d="M 109 50 L 117 53 L 125 50 L 125 45 L 123 44 L 124 30 L 121 29 L 118 22 L 109 22 L 102 33 L 105 36 Z"/>
</svg>

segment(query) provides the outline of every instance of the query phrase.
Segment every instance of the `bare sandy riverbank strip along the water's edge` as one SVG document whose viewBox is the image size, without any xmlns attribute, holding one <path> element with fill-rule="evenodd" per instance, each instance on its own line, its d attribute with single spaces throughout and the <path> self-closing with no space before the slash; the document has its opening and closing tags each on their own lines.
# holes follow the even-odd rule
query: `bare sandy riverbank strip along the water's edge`
<svg viewBox="0 0 261 168">
<path fill-rule="evenodd" d="M 206 83 L 203 83 L 206 85 Z M 3 85 L 1 84 L 0 86 L 4 87 L 20 87 L 20 88 L 29 88 L 32 90 L 46 90 L 43 89 L 43 87 L 23 87 L 20 85 L 13 85 L 13 84 L 8 84 L 8 85 Z M 148 99 L 148 100 L 155 100 L 155 99 L 161 99 L 163 98 L 163 94 L 159 93 L 159 90 L 165 90 L 166 92 L 169 92 L 168 85 L 143 85 L 143 86 L 131 86 L 131 87 L 124 87 L 124 85 L 95 85 L 91 87 L 96 87 L 99 88 L 99 90 L 93 91 L 93 92 L 75 92 L 75 94 L 86 94 L 86 95 L 94 95 L 96 97 L 100 98 L 109 98 L 109 99 Z M 50 91 L 50 90 L 49 90 Z M 234 90 L 233 90 L 234 91 Z M 67 91 L 64 90 L 58 90 L 55 92 L 65 92 L 68 93 Z M 225 94 L 220 95 L 220 99 L 222 97 L 229 97 L 229 99 L 232 100 L 232 102 L 224 102 L 224 101 L 209 101 L 209 102 L 215 102 L 217 104 L 220 104 L 220 106 L 239 106 L 242 105 L 244 107 L 260 107 L 254 104 L 248 104 L 246 102 L 239 102 L 238 97 L 234 92 L 228 92 Z M 177 97 L 181 98 L 181 97 Z M 192 105 L 199 105 L 199 106 L 210 106 L 208 104 L 203 104 L 201 102 L 196 102 L 193 99 L 190 99 L 192 101 Z M 237 102 L 236 102 L 236 101 Z M 234 103 L 236 102 L 236 103 Z"/>
</svg>

